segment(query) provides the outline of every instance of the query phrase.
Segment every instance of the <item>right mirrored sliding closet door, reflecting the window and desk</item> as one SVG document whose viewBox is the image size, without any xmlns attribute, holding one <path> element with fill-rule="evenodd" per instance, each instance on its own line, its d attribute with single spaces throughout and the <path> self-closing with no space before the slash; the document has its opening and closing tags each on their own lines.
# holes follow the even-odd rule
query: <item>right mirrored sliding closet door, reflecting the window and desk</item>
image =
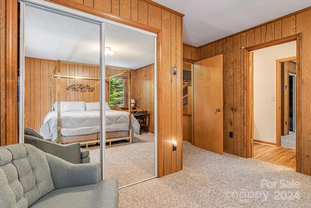
<svg viewBox="0 0 311 208">
<path fill-rule="evenodd" d="M 155 38 L 111 24 L 104 37 L 106 177 L 123 187 L 155 177 Z"/>
</svg>

